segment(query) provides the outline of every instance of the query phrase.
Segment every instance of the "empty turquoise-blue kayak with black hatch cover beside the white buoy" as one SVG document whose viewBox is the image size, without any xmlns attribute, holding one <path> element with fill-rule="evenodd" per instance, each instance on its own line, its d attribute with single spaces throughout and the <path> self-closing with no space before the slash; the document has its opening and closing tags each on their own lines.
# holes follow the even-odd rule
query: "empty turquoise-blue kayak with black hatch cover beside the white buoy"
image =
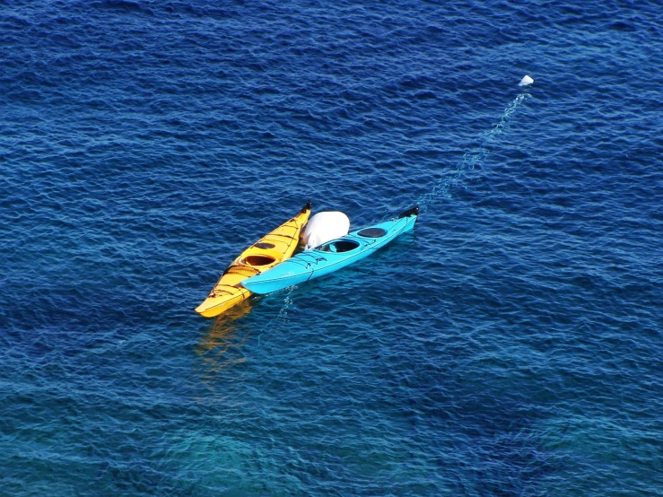
<svg viewBox="0 0 663 497">
<path fill-rule="evenodd" d="M 328 275 L 370 256 L 401 233 L 412 231 L 418 215 L 419 207 L 415 206 L 398 215 L 397 219 L 353 231 L 301 252 L 264 273 L 242 280 L 241 284 L 254 293 L 269 293 Z"/>
</svg>

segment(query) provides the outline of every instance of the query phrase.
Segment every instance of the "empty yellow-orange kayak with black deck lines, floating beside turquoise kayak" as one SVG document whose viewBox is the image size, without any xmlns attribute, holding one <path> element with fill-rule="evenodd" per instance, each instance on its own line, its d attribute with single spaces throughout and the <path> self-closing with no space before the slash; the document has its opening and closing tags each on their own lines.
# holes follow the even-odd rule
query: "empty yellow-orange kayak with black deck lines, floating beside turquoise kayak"
<svg viewBox="0 0 663 497">
<path fill-rule="evenodd" d="M 214 318 L 233 305 L 247 300 L 251 292 L 241 286 L 240 282 L 290 258 L 297 248 L 301 229 L 309 220 L 309 215 L 310 202 L 290 221 L 244 250 L 240 257 L 228 266 L 205 301 L 196 307 L 196 312 L 205 318 Z"/>
</svg>

